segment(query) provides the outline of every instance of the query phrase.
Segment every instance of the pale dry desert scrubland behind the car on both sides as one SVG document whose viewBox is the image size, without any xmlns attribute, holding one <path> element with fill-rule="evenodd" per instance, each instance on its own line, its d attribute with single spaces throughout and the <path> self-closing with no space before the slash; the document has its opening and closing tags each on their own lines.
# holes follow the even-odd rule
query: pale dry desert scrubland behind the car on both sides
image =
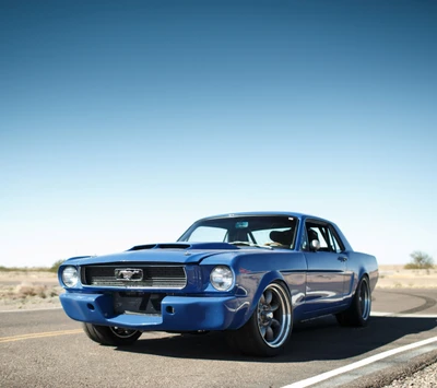
<svg viewBox="0 0 437 388">
<path fill-rule="evenodd" d="M 405 270 L 403 266 L 380 266 L 378 289 L 436 289 L 437 267 Z M 0 271 L 0 311 L 59 307 L 62 287 L 56 273 L 45 271 Z"/>
</svg>

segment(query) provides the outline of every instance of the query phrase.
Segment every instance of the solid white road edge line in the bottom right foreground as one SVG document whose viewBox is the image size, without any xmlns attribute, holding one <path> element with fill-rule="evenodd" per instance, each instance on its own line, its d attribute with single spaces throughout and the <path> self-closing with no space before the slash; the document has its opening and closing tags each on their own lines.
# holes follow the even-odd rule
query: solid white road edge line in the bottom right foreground
<svg viewBox="0 0 437 388">
<path fill-rule="evenodd" d="M 375 355 L 373 355 L 370 357 L 357 361 L 356 363 L 352 363 L 350 365 L 345 365 L 345 366 L 342 366 L 340 368 L 322 373 L 321 375 L 314 376 L 314 377 L 307 378 L 305 380 L 293 383 L 293 384 L 284 386 L 282 388 L 305 388 L 305 387 L 309 387 L 309 386 L 311 386 L 314 384 L 327 380 L 328 378 L 342 375 L 343 373 L 351 372 L 353 369 L 357 369 L 357 368 L 363 367 L 365 365 L 368 365 L 368 364 L 375 363 L 377 361 L 387 358 L 387 357 L 389 357 L 391 355 L 394 355 L 394 354 L 398 354 L 398 353 L 402 353 L 402 352 L 405 352 L 405 351 L 409 351 L 409 350 L 412 350 L 412 349 L 416 349 L 416 348 L 420 348 L 420 346 L 424 346 L 424 345 L 427 345 L 427 344 L 433 343 L 433 342 L 437 342 L 437 337 L 428 338 L 427 340 L 410 343 L 409 345 L 404 345 L 404 346 L 392 349 L 392 350 L 389 350 L 389 351 L 386 351 L 386 352 L 382 352 L 382 353 L 379 353 L 379 354 L 375 354 Z"/>
</svg>

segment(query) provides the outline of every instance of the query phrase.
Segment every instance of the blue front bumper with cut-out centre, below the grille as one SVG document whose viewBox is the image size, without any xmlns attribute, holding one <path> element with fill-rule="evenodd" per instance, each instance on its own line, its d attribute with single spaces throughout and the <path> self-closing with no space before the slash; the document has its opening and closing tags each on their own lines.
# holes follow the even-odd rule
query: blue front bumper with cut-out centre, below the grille
<svg viewBox="0 0 437 388">
<path fill-rule="evenodd" d="M 66 314 L 82 322 L 118 326 L 141 331 L 196 331 L 237 329 L 244 325 L 248 303 L 235 296 L 165 296 L 161 314 L 119 314 L 110 294 L 66 292 L 60 295 Z"/>
</svg>

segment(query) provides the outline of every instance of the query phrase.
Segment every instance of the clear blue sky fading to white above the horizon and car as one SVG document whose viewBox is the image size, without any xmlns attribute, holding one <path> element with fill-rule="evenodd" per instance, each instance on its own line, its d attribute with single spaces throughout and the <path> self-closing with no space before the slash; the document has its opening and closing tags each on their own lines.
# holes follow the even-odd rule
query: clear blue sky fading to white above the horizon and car
<svg viewBox="0 0 437 388">
<path fill-rule="evenodd" d="M 437 2 L 1 1 L 0 266 L 284 210 L 437 261 Z"/>
</svg>

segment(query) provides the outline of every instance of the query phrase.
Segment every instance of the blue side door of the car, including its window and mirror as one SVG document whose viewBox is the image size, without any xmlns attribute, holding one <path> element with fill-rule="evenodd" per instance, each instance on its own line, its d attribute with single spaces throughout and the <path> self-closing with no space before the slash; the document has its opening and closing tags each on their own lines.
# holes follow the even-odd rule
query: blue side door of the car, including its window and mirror
<svg viewBox="0 0 437 388">
<path fill-rule="evenodd" d="M 328 223 L 308 220 L 303 246 L 307 259 L 307 310 L 331 309 L 342 304 L 345 293 L 346 255 L 339 251 Z M 319 247 L 311 247 L 317 240 Z"/>
</svg>

